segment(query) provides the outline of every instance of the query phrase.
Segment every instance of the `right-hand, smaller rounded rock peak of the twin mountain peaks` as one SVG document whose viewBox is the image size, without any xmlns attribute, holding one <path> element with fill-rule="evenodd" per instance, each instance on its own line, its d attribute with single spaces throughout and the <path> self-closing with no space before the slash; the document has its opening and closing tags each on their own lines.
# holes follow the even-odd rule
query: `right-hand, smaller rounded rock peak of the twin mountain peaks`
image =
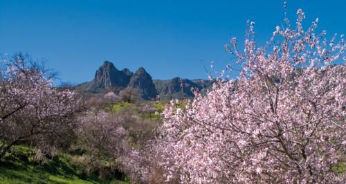
<svg viewBox="0 0 346 184">
<path fill-rule="evenodd" d="M 152 81 L 152 76 L 145 71 L 143 67 L 138 68 L 136 73 L 131 77 L 129 84 L 130 88 L 139 89 L 142 94 L 142 98 L 145 100 L 150 100 L 155 98 L 156 89 Z"/>
</svg>

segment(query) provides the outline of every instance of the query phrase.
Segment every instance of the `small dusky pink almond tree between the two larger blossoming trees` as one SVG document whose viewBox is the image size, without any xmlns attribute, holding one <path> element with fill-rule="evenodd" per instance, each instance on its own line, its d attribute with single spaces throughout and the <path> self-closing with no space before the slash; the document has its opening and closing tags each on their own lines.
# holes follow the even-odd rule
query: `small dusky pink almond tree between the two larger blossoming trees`
<svg viewBox="0 0 346 184">
<path fill-rule="evenodd" d="M 122 117 L 105 111 L 89 111 L 78 120 L 78 142 L 88 154 L 84 168 L 102 170 L 100 162 L 114 163 L 123 154 L 129 135 L 122 127 Z"/>
</svg>

